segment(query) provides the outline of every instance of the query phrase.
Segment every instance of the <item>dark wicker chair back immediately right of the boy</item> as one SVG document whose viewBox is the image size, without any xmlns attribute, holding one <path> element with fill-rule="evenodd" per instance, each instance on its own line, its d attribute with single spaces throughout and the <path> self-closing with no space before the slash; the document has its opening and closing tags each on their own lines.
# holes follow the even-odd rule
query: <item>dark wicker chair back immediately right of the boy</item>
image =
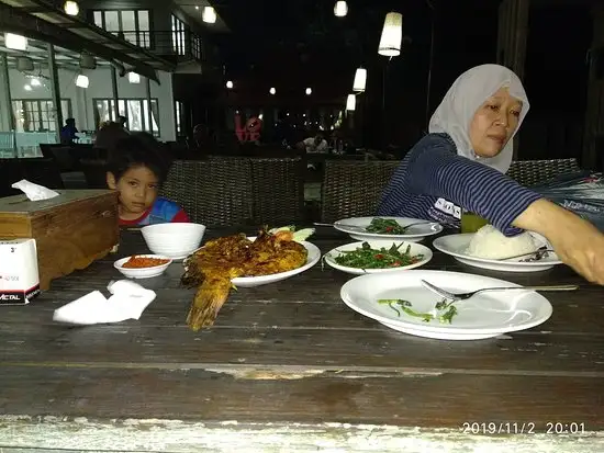
<svg viewBox="0 0 604 453">
<path fill-rule="evenodd" d="M 249 159 L 175 160 L 160 194 L 179 203 L 192 222 L 210 227 L 249 224 Z"/>
</svg>

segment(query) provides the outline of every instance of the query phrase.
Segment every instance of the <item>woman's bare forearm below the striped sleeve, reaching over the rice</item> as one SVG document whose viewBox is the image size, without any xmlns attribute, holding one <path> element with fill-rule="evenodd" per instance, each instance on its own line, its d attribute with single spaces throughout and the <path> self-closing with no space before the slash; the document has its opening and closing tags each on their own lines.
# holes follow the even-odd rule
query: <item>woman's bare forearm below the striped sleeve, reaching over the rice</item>
<svg viewBox="0 0 604 453">
<path fill-rule="evenodd" d="M 604 235 L 589 222 L 547 200 L 530 204 L 514 226 L 544 235 L 566 264 L 604 285 Z"/>
</svg>

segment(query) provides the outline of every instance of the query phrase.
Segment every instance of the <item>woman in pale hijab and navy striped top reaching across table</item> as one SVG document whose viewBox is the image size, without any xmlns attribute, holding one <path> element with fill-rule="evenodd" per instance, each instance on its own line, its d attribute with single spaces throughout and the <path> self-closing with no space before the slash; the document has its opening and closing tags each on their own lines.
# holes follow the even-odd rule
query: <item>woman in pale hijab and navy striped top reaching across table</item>
<svg viewBox="0 0 604 453">
<path fill-rule="evenodd" d="M 544 235 L 562 261 L 604 284 L 604 235 L 504 174 L 528 107 L 510 69 L 482 65 L 463 72 L 432 116 L 429 134 L 395 171 L 377 214 L 459 226 L 467 209 L 506 236 Z"/>
</svg>

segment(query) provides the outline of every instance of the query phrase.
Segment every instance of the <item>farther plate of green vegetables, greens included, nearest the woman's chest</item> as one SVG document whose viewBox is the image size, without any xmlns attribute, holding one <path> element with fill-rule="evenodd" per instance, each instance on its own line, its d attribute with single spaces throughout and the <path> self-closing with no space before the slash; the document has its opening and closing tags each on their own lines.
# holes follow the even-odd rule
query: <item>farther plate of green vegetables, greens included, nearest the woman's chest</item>
<svg viewBox="0 0 604 453">
<path fill-rule="evenodd" d="M 437 222 L 410 217 L 354 217 L 334 223 L 334 228 L 357 240 L 389 239 L 420 242 L 427 236 L 443 231 Z"/>
</svg>

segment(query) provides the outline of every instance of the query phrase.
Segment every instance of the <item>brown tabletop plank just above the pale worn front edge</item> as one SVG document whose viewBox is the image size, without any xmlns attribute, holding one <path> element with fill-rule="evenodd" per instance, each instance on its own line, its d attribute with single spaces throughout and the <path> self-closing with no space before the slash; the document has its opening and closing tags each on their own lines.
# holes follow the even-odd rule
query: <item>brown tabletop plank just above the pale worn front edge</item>
<svg viewBox="0 0 604 453">
<path fill-rule="evenodd" d="M 496 431 L 499 423 L 527 423 L 527 433 L 551 430 L 548 422 L 584 423 L 577 427 L 581 431 L 604 429 L 604 405 L 597 396 L 601 380 L 590 377 L 527 380 L 481 375 L 472 376 L 472 385 L 468 385 L 468 376 L 455 374 L 304 375 L 258 370 L 233 375 L 205 370 L 12 366 L 0 370 L 2 411 L 13 416 L 107 420 L 160 415 L 176 420 L 244 423 L 451 428 L 466 433 L 471 433 L 471 428 L 466 429 L 465 422 L 494 422 Z M 547 392 L 541 390 L 545 388 Z M 426 395 L 433 398 L 426 400 Z M 507 433 L 505 429 L 501 427 L 500 433 Z"/>
</svg>

